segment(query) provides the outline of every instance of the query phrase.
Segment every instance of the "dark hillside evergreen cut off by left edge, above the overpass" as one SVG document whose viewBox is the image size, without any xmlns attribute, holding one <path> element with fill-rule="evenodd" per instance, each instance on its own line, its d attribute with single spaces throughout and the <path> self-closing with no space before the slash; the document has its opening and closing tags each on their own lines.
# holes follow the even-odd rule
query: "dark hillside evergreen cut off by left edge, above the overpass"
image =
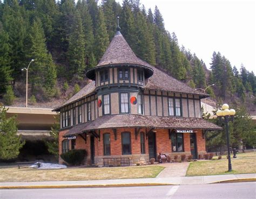
<svg viewBox="0 0 256 199">
<path fill-rule="evenodd" d="M 11 59 L 10 59 L 10 45 L 8 34 L 0 29 L 0 95 L 4 94 L 6 87 L 11 84 L 13 80 L 11 77 Z"/>
</svg>

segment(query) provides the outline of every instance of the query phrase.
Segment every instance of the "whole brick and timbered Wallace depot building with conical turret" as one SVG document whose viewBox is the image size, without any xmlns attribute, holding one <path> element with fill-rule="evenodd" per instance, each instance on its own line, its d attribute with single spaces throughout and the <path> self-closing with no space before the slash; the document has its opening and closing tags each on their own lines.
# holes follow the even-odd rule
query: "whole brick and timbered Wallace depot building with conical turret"
<svg viewBox="0 0 256 199">
<path fill-rule="evenodd" d="M 86 165 L 146 164 L 159 153 L 196 159 L 206 153 L 205 131 L 221 129 L 201 117 L 208 95 L 137 58 L 119 29 L 86 77 L 90 83 L 55 109 L 59 154 L 85 149 Z"/>
</svg>

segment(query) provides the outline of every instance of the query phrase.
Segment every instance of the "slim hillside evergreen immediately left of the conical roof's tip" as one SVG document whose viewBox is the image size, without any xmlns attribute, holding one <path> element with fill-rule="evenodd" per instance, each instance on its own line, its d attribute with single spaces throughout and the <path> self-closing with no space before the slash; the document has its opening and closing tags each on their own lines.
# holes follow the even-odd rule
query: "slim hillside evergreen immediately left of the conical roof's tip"
<svg viewBox="0 0 256 199">
<path fill-rule="evenodd" d="M 95 56 L 97 61 L 99 61 L 102 58 L 107 46 L 109 45 L 109 35 L 107 35 L 103 11 L 99 9 L 98 13 L 99 15 L 95 35 L 95 45 L 97 46 Z"/>
</svg>

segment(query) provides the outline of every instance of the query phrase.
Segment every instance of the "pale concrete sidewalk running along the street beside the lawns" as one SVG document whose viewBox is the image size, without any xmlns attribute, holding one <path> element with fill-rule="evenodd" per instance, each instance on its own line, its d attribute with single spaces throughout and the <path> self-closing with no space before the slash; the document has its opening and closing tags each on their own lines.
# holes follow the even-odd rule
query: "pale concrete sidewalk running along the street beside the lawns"
<svg viewBox="0 0 256 199">
<path fill-rule="evenodd" d="M 218 182 L 256 181 L 256 174 L 209 175 L 194 177 L 157 177 L 147 179 L 117 179 L 88 181 L 43 181 L 43 182 L 0 182 L 0 189 L 37 189 L 37 188 L 86 188 L 86 187 L 128 187 L 208 184 Z"/>
</svg>

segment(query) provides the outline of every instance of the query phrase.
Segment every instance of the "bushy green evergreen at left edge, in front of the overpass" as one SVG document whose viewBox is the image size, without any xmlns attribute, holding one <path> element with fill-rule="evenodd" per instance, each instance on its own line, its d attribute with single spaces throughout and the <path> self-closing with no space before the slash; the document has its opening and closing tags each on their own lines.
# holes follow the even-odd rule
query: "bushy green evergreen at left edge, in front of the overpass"
<svg viewBox="0 0 256 199">
<path fill-rule="evenodd" d="M 14 159 L 19 154 L 19 149 L 25 144 L 21 141 L 21 135 L 17 136 L 17 118 L 6 117 L 3 105 L 0 104 L 0 159 Z"/>
</svg>

